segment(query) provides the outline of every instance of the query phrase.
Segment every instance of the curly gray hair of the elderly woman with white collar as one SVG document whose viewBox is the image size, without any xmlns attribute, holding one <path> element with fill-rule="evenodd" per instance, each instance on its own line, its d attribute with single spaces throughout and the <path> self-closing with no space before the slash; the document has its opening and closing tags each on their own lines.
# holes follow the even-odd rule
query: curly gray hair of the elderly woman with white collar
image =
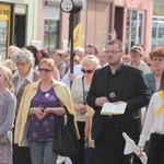
<svg viewBox="0 0 164 164">
<path fill-rule="evenodd" d="M 17 49 L 12 52 L 11 59 L 14 63 L 22 61 L 24 63 L 30 63 L 31 67 L 34 67 L 34 55 L 26 48 Z"/>
</svg>

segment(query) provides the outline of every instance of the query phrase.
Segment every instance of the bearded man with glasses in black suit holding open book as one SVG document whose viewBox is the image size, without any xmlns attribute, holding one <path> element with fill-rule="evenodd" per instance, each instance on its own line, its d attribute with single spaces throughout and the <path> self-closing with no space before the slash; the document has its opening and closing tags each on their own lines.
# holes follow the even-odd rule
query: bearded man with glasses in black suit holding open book
<svg viewBox="0 0 164 164">
<path fill-rule="evenodd" d="M 119 39 L 108 42 L 105 52 L 108 66 L 94 72 L 86 98 L 95 110 L 92 138 L 95 140 L 96 164 L 130 164 L 131 154 L 124 155 L 122 132 L 138 143 L 141 130 L 140 108 L 149 103 L 149 89 L 141 70 L 122 63 L 124 50 Z M 125 114 L 101 115 L 105 102 L 126 102 Z"/>
</svg>

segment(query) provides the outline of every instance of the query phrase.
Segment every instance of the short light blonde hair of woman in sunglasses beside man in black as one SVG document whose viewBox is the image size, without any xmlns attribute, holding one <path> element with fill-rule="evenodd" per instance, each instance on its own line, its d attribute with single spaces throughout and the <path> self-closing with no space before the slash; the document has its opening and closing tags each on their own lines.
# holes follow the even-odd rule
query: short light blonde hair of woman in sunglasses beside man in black
<svg viewBox="0 0 164 164">
<path fill-rule="evenodd" d="M 99 66 L 99 61 L 94 55 L 85 56 L 82 59 L 81 63 L 82 63 L 82 66 L 93 66 L 95 68 Z"/>
</svg>

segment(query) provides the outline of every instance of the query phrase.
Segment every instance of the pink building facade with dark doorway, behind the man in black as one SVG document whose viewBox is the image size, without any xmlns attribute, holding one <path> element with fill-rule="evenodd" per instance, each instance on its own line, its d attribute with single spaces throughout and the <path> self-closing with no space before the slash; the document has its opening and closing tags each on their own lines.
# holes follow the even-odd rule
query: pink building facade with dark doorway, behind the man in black
<svg viewBox="0 0 164 164">
<path fill-rule="evenodd" d="M 87 0 L 85 44 L 97 47 L 119 38 L 125 52 L 133 44 L 151 49 L 152 0 Z"/>
</svg>

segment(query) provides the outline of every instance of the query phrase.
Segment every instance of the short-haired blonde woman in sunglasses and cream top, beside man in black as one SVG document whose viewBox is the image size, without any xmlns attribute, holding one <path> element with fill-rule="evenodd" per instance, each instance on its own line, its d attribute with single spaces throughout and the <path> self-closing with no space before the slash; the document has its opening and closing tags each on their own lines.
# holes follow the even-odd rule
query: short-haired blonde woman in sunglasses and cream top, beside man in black
<svg viewBox="0 0 164 164">
<path fill-rule="evenodd" d="M 85 113 L 86 113 L 86 96 L 91 85 L 94 70 L 98 68 L 98 59 L 89 55 L 82 59 L 83 75 L 77 77 L 72 83 L 71 94 L 75 110 L 75 119 L 80 131 L 80 152 L 78 155 L 71 157 L 72 164 L 84 164 L 85 162 L 85 150 L 84 150 L 84 127 L 85 127 Z"/>
</svg>

